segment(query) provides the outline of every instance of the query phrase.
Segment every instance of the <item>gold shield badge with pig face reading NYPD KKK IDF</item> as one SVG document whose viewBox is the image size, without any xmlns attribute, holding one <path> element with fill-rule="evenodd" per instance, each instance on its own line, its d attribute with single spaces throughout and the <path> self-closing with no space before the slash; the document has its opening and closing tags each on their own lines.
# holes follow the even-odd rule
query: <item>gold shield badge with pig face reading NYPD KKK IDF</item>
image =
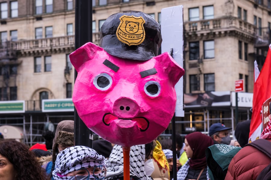
<svg viewBox="0 0 271 180">
<path fill-rule="evenodd" d="M 145 39 L 144 23 L 145 20 L 141 16 L 121 16 L 116 32 L 118 40 L 129 46 L 141 44 Z"/>
</svg>

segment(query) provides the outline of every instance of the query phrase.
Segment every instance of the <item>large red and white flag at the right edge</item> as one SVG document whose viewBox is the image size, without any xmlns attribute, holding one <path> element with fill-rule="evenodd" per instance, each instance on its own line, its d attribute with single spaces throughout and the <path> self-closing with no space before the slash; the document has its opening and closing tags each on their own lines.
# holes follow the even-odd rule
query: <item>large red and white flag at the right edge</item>
<svg viewBox="0 0 271 180">
<path fill-rule="evenodd" d="M 263 68 L 254 83 L 252 117 L 249 132 L 249 141 L 254 141 L 260 137 L 261 127 L 261 109 L 264 101 L 271 95 L 271 44 L 269 45 L 267 56 Z"/>
</svg>

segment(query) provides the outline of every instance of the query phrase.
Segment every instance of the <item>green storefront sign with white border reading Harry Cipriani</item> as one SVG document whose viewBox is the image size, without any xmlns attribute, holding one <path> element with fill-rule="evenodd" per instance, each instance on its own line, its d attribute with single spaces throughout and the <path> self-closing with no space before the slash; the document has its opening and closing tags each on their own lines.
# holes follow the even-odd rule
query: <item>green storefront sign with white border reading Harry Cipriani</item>
<svg viewBox="0 0 271 180">
<path fill-rule="evenodd" d="M 42 100 L 42 112 L 74 111 L 73 101 L 69 100 Z"/>
</svg>

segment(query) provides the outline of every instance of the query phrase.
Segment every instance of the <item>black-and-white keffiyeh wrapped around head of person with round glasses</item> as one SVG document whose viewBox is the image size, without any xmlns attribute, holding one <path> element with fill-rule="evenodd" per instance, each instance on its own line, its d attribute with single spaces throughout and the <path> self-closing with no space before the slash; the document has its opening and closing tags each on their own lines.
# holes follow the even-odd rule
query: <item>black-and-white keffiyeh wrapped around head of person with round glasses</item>
<svg viewBox="0 0 271 180">
<path fill-rule="evenodd" d="M 75 179 L 74 176 L 66 176 L 67 173 L 99 165 L 107 167 L 104 156 L 86 146 L 72 146 L 57 155 L 53 177 L 55 180 L 72 180 Z M 94 177 L 90 175 L 89 179 Z"/>
</svg>

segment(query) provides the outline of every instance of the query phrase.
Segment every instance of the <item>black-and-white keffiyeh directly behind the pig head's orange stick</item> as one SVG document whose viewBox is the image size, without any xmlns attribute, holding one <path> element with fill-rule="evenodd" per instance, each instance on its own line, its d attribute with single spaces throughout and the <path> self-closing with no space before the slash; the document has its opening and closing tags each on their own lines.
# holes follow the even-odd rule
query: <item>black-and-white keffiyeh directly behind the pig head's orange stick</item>
<svg viewBox="0 0 271 180">
<path fill-rule="evenodd" d="M 115 145 L 108 159 L 108 168 L 105 179 L 113 180 L 123 176 L 123 149 Z M 144 168 L 145 145 L 132 146 L 130 149 L 130 176 L 136 176 L 140 180 L 152 180 L 147 176 Z"/>
</svg>

